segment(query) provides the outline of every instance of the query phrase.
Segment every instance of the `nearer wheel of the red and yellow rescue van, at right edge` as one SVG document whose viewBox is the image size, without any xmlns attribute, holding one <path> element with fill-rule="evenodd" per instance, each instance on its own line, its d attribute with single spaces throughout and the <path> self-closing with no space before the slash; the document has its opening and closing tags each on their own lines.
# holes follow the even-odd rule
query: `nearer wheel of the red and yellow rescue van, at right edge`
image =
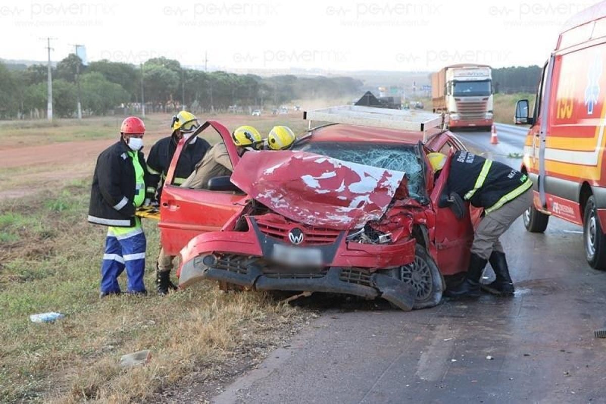
<svg viewBox="0 0 606 404">
<path fill-rule="evenodd" d="M 596 270 L 606 270 L 606 237 L 602 233 L 593 195 L 587 200 L 583 214 L 583 243 L 585 257 L 590 267 Z"/>
</svg>

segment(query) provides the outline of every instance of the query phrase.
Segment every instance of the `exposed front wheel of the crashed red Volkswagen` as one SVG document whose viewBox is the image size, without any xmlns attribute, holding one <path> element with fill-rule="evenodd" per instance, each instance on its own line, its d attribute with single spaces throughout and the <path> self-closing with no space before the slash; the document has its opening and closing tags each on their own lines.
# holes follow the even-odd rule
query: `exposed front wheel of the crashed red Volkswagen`
<svg viewBox="0 0 606 404">
<path fill-rule="evenodd" d="M 444 291 L 444 277 L 438 265 L 422 245 L 415 247 L 415 260 L 396 268 L 395 276 L 404 283 L 413 286 L 416 291 L 413 309 L 438 305 Z"/>
</svg>

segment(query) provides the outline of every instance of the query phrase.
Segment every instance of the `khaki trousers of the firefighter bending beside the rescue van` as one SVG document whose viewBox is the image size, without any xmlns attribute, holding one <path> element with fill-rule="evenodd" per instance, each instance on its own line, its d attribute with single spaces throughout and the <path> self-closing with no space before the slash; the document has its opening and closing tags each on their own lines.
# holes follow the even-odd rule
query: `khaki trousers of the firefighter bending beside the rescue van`
<svg viewBox="0 0 606 404">
<path fill-rule="evenodd" d="M 532 200 L 533 191 L 530 187 L 516 199 L 482 217 L 473 235 L 471 253 L 484 259 L 488 259 L 493 250 L 504 253 L 499 237 L 530 207 Z"/>
</svg>

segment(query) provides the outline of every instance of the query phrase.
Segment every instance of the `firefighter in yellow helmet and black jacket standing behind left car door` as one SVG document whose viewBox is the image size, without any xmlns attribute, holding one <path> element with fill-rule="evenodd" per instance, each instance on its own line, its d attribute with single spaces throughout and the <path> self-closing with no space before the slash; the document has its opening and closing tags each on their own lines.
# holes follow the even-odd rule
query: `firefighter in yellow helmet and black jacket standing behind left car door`
<svg viewBox="0 0 606 404">
<path fill-rule="evenodd" d="M 194 114 L 189 111 L 179 111 L 173 116 L 170 124 L 172 130 L 170 136 L 163 137 L 151 147 L 147 157 L 147 172 L 150 177 L 146 188 L 147 202 L 161 199 L 162 185 L 178 142 L 182 138 L 189 139 L 199 126 L 198 118 Z M 181 185 L 185 181 L 194 171 L 196 163 L 207 153 L 208 148 L 210 148 L 208 142 L 198 137 L 191 139 L 185 145 L 175 168 L 173 184 Z M 160 247 L 156 266 L 156 290 L 159 294 L 167 294 L 169 289 L 176 289 L 176 286 L 170 282 L 170 270 L 173 268 L 174 258 L 164 254 L 164 249 Z"/>
</svg>

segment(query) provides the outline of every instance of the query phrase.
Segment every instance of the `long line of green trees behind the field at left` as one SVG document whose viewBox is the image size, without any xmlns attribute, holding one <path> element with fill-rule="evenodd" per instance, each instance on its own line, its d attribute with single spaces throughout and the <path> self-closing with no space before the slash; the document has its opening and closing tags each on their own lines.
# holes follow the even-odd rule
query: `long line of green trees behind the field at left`
<svg viewBox="0 0 606 404">
<path fill-rule="evenodd" d="M 0 119 L 44 118 L 47 108 L 47 65 L 8 68 L 0 62 Z M 295 99 L 340 98 L 357 94 L 362 82 L 348 77 L 261 77 L 226 71 L 184 68 L 179 61 L 152 58 L 140 66 L 101 60 L 82 64 L 71 54 L 52 69 L 53 113 L 82 110 L 105 115 L 115 108 L 175 111 L 185 104 L 198 112 L 227 110 L 230 105 L 278 107 Z M 79 90 L 78 90 L 79 87 Z"/>
</svg>

